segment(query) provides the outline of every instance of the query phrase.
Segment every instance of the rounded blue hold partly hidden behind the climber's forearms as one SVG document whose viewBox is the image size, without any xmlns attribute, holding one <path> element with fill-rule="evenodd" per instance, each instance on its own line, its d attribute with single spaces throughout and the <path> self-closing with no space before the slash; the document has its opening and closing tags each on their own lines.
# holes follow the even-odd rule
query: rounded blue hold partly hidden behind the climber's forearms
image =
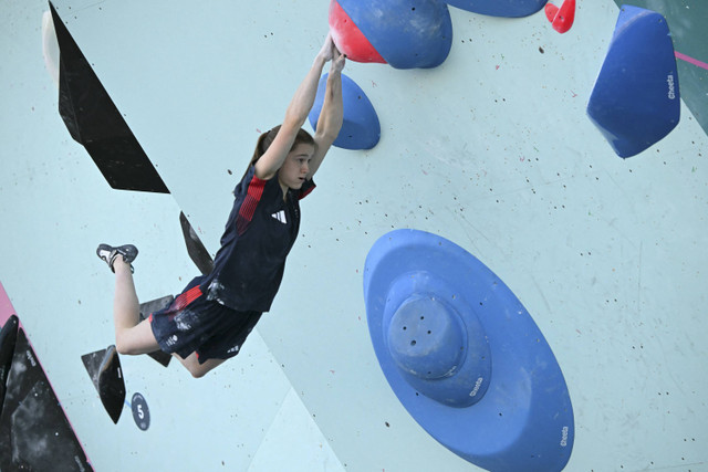
<svg viewBox="0 0 708 472">
<path fill-rule="evenodd" d="M 317 129 L 317 119 L 324 103 L 327 76 L 324 74 L 317 85 L 314 105 L 310 111 L 310 124 Z M 342 74 L 342 101 L 344 105 L 344 123 L 334 140 L 334 146 L 344 149 L 371 149 L 381 138 L 381 124 L 371 101 L 356 83 Z"/>
</svg>

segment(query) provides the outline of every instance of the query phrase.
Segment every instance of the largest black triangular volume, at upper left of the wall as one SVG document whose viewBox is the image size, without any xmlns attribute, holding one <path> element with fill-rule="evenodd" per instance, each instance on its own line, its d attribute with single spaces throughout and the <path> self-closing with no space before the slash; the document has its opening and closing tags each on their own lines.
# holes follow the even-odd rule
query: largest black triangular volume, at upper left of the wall
<svg viewBox="0 0 708 472">
<path fill-rule="evenodd" d="M 60 50 L 59 113 L 112 188 L 169 193 L 50 2 Z"/>
</svg>

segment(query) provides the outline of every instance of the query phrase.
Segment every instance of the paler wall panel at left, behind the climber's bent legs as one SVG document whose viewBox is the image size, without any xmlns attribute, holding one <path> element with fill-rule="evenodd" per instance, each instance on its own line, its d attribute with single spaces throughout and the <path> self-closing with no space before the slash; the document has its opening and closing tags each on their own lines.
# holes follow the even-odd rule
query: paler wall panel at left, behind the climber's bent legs
<svg viewBox="0 0 708 472">
<path fill-rule="evenodd" d="M 122 356 L 127 400 L 149 407 L 145 432 L 127 407 L 113 424 L 84 369 L 83 354 L 114 343 L 100 242 L 139 248 L 143 301 L 179 292 L 196 269 L 174 198 L 112 190 L 71 139 L 42 59 L 46 8 L 0 3 L 0 280 L 96 470 L 248 470 L 291 390 L 258 334 L 198 381 L 176 361 Z"/>
</svg>

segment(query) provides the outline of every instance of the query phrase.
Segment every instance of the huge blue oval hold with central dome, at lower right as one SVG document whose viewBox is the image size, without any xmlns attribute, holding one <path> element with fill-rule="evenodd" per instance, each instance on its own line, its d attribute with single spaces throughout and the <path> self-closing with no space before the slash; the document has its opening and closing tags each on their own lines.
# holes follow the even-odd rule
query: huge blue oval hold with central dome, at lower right
<svg viewBox="0 0 708 472">
<path fill-rule="evenodd" d="M 388 384 L 437 441 L 490 471 L 561 471 L 574 442 L 563 373 L 531 315 L 473 255 L 396 230 L 364 269 L 369 335 Z"/>
</svg>

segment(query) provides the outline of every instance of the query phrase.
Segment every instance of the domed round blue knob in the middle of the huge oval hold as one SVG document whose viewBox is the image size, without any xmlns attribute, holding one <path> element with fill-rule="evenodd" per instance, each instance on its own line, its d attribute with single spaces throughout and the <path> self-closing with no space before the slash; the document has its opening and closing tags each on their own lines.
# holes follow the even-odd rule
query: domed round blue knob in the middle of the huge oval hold
<svg viewBox="0 0 708 472">
<path fill-rule="evenodd" d="M 429 291 L 409 292 L 412 283 Z M 383 339 L 403 380 L 447 407 L 480 401 L 492 379 L 492 355 L 475 311 L 426 271 L 402 275 L 391 294 Z"/>
</svg>

